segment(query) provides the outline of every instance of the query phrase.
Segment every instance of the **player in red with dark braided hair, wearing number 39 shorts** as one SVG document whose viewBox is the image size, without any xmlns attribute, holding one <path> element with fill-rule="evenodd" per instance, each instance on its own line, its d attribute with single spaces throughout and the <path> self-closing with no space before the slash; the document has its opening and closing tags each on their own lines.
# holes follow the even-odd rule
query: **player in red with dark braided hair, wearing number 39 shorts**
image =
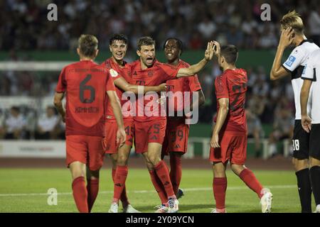
<svg viewBox="0 0 320 227">
<path fill-rule="evenodd" d="M 190 65 L 187 62 L 180 59 L 182 52 L 183 43 L 178 38 L 168 38 L 165 41 L 164 54 L 169 65 L 174 65 L 179 69 L 189 67 Z M 168 80 L 166 86 L 167 91 L 171 92 L 167 104 L 176 114 L 175 116 L 167 116 L 166 136 L 162 145 L 161 156 L 170 155 L 170 179 L 174 187 L 174 193 L 177 199 L 179 199 L 183 195 L 182 189 L 179 189 L 182 175 L 181 156 L 186 153 L 188 148 L 189 125 L 185 122 L 185 115 L 177 115 L 179 112 L 182 113 L 186 105 L 190 106 L 191 111 L 198 108 L 198 106 L 204 104 L 205 97 L 197 75 Z M 192 102 L 193 99 L 191 99 L 188 103 L 184 102 L 185 92 L 189 92 L 191 97 L 194 95 L 196 100 Z M 175 100 L 176 97 L 177 100 Z M 166 211 L 166 194 L 161 194 L 160 199 L 161 206 L 159 206 L 158 211 Z"/>
</svg>

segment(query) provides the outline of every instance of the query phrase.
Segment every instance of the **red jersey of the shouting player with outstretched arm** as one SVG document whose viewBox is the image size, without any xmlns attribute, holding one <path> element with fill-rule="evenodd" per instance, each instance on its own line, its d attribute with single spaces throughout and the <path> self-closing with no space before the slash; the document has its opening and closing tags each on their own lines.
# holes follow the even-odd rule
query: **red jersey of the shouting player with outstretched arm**
<svg viewBox="0 0 320 227">
<path fill-rule="evenodd" d="M 176 79 L 178 73 L 178 67 L 174 65 L 167 65 L 157 60 L 154 62 L 152 67 L 146 70 L 141 69 L 140 60 L 134 61 L 130 64 L 132 72 L 133 84 L 143 86 L 158 86 L 161 83 L 166 82 L 169 79 Z M 145 94 L 142 97 L 138 97 L 136 104 L 136 115 L 135 121 L 151 121 L 154 118 L 161 118 L 166 116 L 166 109 L 163 105 L 158 104 L 159 94 L 153 96 L 152 94 Z M 157 106 L 156 108 L 153 108 Z"/>
</svg>

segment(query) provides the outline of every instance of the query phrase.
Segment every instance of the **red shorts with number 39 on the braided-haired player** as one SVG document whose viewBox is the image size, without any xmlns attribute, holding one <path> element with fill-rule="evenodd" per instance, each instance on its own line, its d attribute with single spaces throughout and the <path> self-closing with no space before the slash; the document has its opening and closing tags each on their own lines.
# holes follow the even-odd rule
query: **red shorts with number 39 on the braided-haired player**
<svg viewBox="0 0 320 227">
<path fill-rule="evenodd" d="M 186 153 L 188 150 L 189 125 L 185 119 L 169 120 L 166 123 L 166 137 L 162 145 L 162 154 L 171 152 Z"/>
</svg>

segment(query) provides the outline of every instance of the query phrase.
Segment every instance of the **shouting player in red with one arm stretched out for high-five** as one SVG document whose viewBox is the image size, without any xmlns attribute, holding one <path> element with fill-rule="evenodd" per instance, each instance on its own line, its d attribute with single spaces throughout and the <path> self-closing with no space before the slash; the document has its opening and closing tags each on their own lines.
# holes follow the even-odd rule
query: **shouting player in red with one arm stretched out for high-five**
<svg viewBox="0 0 320 227">
<path fill-rule="evenodd" d="M 169 79 L 188 77 L 198 73 L 213 57 L 213 42 L 208 43 L 205 58 L 196 65 L 178 68 L 156 60 L 155 41 L 150 37 L 139 38 L 137 55 L 140 59 L 130 64 L 133 84 L 156 86 Z M 169 170 L 161 160 L 161 146 L 166 133 L 166 111 L 155 93 L 139 95 L 134 116 L 134 144 L 136 153 L 146 160 L 151 181 L 156 192 L 163 189 L 168 199 L 168 212 L 178 211 L 178 200 L 171 184 Z"/>
</svg>

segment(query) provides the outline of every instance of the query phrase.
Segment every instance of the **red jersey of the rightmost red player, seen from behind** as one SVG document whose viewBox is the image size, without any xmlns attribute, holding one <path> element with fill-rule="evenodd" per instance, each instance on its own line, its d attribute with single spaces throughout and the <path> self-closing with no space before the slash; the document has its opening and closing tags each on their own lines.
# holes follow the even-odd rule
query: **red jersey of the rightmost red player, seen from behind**
<svg viewBox="0 0 320 227">
<path fill-rule="evenodd" d="M 225 70 L 215 79 L 217 99 L 229 98 L 229 112 L 223 125 L 224 131 L 247 131 L 245 92 L 247 92 L 247 72 L 245 70 Z M 219 102 L 217 106 L 218 112 Z"/>
</svg>

